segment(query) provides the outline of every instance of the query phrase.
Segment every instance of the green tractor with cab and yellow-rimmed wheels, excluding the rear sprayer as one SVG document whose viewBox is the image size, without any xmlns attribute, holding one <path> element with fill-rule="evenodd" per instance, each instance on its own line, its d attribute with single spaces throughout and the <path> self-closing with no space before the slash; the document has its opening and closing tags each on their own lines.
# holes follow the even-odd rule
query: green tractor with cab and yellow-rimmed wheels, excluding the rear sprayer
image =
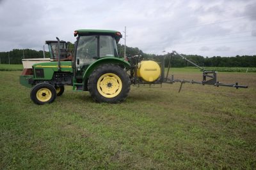
<svg viewBox="0 0 256 170">
<path fill-rule="evenodd" d="M 74 32 L 77 41 L 71 60 L 62 60 L 58 41 L 46 41 L 58 46 L 57 61 L 38 62 L 25 68 L 20 83 L 31 87 L 31 100 L 36 104 L 52 103 L 63 94 L 65 85 L 73 91 L 89 91 L 99 103 L 124 101 L 130 90 L 130 78 L 126 69 L 129 62 L 118 56 L 116 43 L 122 38 L 118 31 L 81 29 Z M 58 43 L 58 45 L 56 45 Z M 53 53 L 53 50 L 52 52 Z M 67 56 L 66 56 L 67 57 Z M 65 57 L 64 57 L 65 58 Z M 56 58 L 55 58 L 56 59 Z"/>
</svg>

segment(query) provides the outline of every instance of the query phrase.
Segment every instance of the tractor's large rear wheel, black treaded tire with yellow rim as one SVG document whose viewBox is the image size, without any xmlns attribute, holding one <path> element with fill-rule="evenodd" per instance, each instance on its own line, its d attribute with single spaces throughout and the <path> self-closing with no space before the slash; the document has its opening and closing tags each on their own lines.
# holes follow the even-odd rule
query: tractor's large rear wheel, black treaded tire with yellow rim
<svg viewBox="0 0 256 170">
<path fill-rule="evenodd" d="M 130 91 L 130 78 L 126 71 L 114 64 L 97 67 L 88 80 L 88 90 L 99 103 L 120 103 Z"/>
</svg>

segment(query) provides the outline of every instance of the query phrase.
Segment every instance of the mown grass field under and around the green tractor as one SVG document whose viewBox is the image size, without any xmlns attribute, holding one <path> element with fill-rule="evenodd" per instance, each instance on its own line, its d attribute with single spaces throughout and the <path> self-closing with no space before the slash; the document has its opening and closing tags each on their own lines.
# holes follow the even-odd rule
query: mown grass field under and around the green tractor
<svg viewBox="0 0 256 170">
<path fill-rule="evenodd" d="M 201 80 L 173 69 L 175 78 Z M 0 71 L 0 169 L 255 169 L 256 74 L 248 89 L 185 83 L 132 87 L 121 104 L 72 92 L 37 106 L 20 71 Z"/>
</svg>

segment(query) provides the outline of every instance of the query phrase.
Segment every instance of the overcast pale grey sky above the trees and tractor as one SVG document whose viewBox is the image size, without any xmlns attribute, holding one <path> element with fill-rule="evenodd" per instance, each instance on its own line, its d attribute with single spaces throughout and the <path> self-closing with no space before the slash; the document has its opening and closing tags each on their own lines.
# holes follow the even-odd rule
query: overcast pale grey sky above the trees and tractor
<svg viewBox="0 0 256 170">
<path fill-rule="evenodd" d="M 77 29 L 120 31 L 126 45 L 157 55 L 256 55 L 255 0 L 0 0 L 0 52 L 43 50 Z M 124 45 L 124 39 L 120 40 Z"/>
</svg>

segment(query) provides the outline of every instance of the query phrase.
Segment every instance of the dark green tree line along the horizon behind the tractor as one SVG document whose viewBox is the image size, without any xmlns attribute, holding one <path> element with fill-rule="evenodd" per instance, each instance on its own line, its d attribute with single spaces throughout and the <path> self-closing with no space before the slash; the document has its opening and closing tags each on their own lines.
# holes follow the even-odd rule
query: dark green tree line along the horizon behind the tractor
<svg viewBox="0 0 256 170">
<path fill-rule="evenodd" d="M 117 45 L 118 54 L 120 56 L 124 56 L 124 45 Z M 129 47 L 126 46 L 126 55 L 134 56 L 141 55 L 144 59 L 153 59 L 160 60 L 160 55 L 143 53 L 138 47 Z M 195 62 L 199 66 L 203 67 L 256 67 L 256 55 L 243 55 L 236 57 L 203 57 L 200 55 L 184 55 L 187 59 Z M 42 58 L 44 56 L 44 52 L 42 50 L 36 51 L 31 49 L 13 49 L 10 52 L 0 52 L 0 64 L 22 64 L 22 59 L 35 59 Z M 162 55 L 163 56 L 163 55 Z M 45 52 L 45 57 L 50 57 L 49 52 Z M 165 57 L 165 67 L 168 66 L 168 61 L 170 59 L 170 53 L 164 55 Z M 172 67 L 186 67 L 192 66 L 189 62 L 186 62 L 181 57 L 176 55 L 172 58 Z"/>
</svg>

